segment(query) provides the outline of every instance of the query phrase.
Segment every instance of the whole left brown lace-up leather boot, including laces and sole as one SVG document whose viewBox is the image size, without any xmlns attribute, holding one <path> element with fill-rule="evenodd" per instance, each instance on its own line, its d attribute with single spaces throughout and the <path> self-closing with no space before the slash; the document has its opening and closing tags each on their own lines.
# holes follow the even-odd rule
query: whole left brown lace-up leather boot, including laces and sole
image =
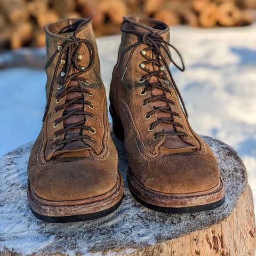
<svg viewBox="0 0 256 256">
<path fill-rule="evenodd" d="M 47 104 L 28 163 L 29 205 L 50 222 L 103 217 L 121 204 L 123 180 L 91 22 L 61 20 L 45 33 Z"/>
</svg>

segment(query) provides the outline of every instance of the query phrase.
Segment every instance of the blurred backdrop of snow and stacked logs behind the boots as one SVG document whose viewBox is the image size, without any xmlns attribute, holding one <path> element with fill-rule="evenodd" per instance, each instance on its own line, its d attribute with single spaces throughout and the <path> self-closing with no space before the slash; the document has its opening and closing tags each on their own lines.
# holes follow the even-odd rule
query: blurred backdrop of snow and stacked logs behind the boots
<svg viewBox="0 0 256 256">
<path fill-rule="evenodd" d="M 255 199 L 255 10 L 256 0 L 0 0 L 0 157 L 34 141 L 41 129 L 45 23 L 92 17 L 108 94 L 123 16 L 141 15 L 171 26 L 186 71 L 170 68 L 189 122 L 237 150 Z"/>
</svg>

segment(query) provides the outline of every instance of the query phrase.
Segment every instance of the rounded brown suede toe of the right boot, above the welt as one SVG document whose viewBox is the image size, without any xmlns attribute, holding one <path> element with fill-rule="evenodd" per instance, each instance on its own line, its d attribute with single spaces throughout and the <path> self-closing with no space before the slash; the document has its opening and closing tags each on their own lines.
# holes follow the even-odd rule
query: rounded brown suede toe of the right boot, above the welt
<svg viewBox="0 0 256 256">
<path fill-rule="evenodd" d="M 200 192 L 215 187 L 220 180 L 217 161 L 208 154 L 172 154 L 136 164 L 135 178 L 142 186 L 161 193 Z"/>
</svg>

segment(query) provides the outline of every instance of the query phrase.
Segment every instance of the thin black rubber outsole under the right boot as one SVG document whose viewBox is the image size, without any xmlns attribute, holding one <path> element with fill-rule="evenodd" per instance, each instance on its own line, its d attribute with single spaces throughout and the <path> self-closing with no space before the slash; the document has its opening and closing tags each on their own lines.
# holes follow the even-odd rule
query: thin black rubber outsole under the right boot
<svg viewBox="0 0 256 256">
<path fill-rule="evenodd" d="M 211 203 L 211 204 L 205 204 L 205 205 L 197 205 L 197 206 L 190 206 L 190 207 L 162 207 L 157 206 L 153 204 L 149 204 L 145 201 L 143 201 L 141 198 L 139 198 L 135 193 L 133 193 L 130 185 L 129 185 L 131 194 L 133 197 L 143 206 L 147 207 L 150 210 L 157 211 L 157 212 L 163 212 L 163 213 L 192 213 L 192 212 L 203 212 L 203 211 L 209 211 L 213 210 L 219 206 L 221 206 L 225 202 L 225 196 L 220 199 L 217 202 Z"/>
</svg>

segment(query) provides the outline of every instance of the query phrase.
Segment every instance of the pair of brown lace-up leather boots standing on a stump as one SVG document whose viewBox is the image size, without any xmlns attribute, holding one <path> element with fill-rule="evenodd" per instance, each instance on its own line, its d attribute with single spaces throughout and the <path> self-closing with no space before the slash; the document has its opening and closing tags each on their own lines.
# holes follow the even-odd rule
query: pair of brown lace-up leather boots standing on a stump
<svg viewBox="0 0 256 256">
<path fill-rule="evenodd" d="M 121 30 L 110 114 L 129 158 L 132 194 L 167 213 L 218 207 L 225 187 L 211 149 L 188 123 L 170 72 L 171 62 L 182 71 L 184 66 L 171 57 L 169 46 L 177 50 L 169 27 L 129 17 Z M 29 205 L 50 222 L 103 217 L 121 204 L 124 185 L 91 22 L 61 20 L 45 26 L 45 33 L 47 105 L 29 158 Z"/>
</svg>

